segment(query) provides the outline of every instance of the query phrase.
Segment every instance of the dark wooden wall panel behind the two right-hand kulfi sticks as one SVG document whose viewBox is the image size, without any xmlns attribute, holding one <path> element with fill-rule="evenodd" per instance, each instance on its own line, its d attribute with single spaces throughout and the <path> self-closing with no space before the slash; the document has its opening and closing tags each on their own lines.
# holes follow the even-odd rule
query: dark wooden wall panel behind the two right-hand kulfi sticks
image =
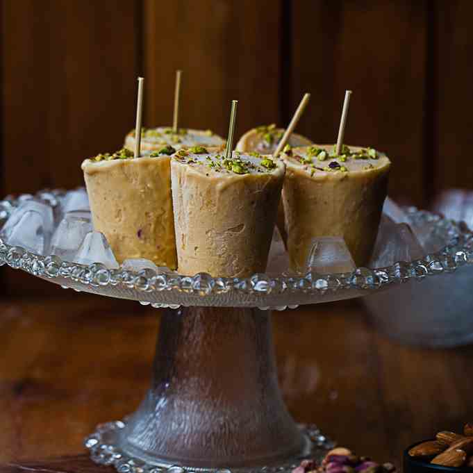
<svg viewBox="0 0 473 473">
<path fill-rule="evenodd" d="M 353 90 L 345 141 L 389 153 L 390 194 L 422 204 L 426 2 L 301 0 L 291 24 L 288 97 L 313 94 L 299 131 L 335 142 Z"/>
</svg>

